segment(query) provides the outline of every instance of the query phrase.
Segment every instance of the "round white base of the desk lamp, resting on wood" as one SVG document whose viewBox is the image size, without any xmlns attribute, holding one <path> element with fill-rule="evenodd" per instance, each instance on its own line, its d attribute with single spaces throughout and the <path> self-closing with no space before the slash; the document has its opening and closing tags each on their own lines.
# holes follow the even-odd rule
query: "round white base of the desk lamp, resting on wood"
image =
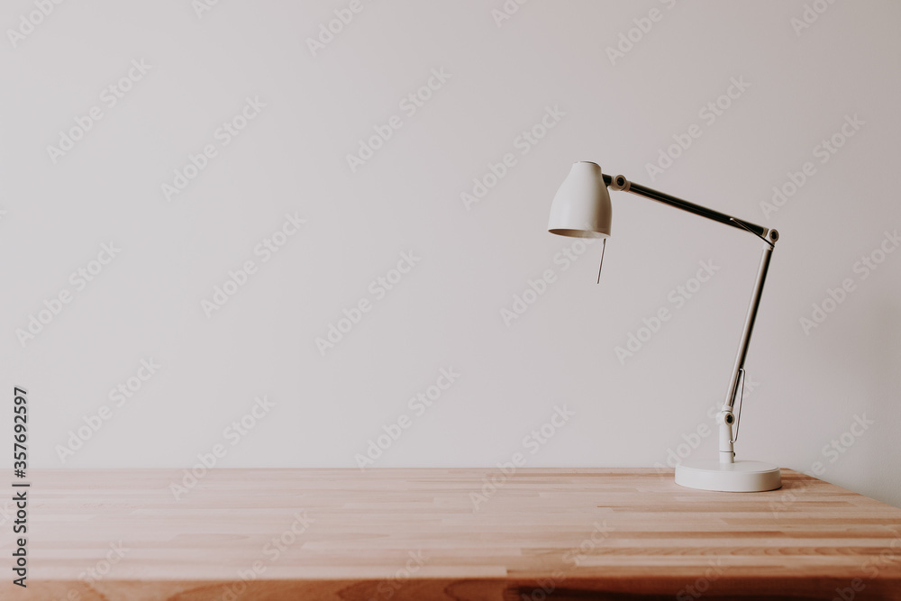
<svg viewBox="0 0 901 601">
<path fill-rule="evenodd" d="M 676 467 L 676 484 L 701 490 L 757 493 L 782 487 L 782 473 L 778 466 L 763 461 L 687 461 Z"/>
</svg>

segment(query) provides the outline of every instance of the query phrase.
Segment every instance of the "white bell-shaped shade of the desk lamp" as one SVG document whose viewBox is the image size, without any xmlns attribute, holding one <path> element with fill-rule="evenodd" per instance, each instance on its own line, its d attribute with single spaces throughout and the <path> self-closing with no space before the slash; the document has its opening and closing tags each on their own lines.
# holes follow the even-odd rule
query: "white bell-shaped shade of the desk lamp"
<svg viewBox="0 0 901 601">
<path fill-rule="evenodd" d="M 548 231 L 573 238 L 606 238 L 610 215 L 610 195 L 600 166 L 579 161 L 554 196 Z"/>
</svg>

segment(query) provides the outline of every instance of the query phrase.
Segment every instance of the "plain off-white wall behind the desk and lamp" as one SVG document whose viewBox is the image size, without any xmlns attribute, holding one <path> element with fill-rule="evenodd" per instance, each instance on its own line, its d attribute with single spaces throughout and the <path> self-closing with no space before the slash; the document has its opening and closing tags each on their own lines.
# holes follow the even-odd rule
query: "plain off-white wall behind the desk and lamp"
<svg viewBox="0 0 901 601">
<path fill-rule="evenodd" d="M 598 286 L 599 246 L 555 260 L 573 241 L 546 232 L 556 188 L 585 159 L 778 228 L 739 457 L 819 461 L 822 478 L 901 505 L 901 252 L 866 278 L 855 269 L 901 225 L 901 5 L 808 2 L 825 11 L 801 29 L 799 0 L 533 1 L 499 26 L 500 0 L 361 0 L 313 56 L 307 39 L 347 5 L 221 0 L 198 17 L 188 0 L 82 0 L 55 5 L 15 45 L 7 32 L 0 376 L 8 406 L 14 386 L 29 390 L 32 467 L 187 467 L 220 443 L 220 466 L 353 467 L 401 414 L 411 427 L 378 467 L 492 466 L 523 449 L 532 467 L 665 463 L 713 424 L 761 243 L 614 193 Z M 10 0 L 0 23 L 30 31 L 21 15 L 34 10 Z M 659 20 L 611 60 L 651 10 Z M 132 59 L 150 68 L 110 106 L 101 93 Z M 406 114 L 401 101 L 432 69 L 450 78 Z M 734 80 L 749 86 L 702 113 Z M 265 106 L 223 145 L 215 132 L 247 97 Z M 48 146 L 92 106 L 102 119 L 54 163 Z M 524 153 L 516 139 L 546 107 L 563 116 Z M 351 172 L 346 156 L 392 115 L 400 129 Z M 842 148 L 815 150 L 855 115 Z M 700 137 L 651 174 L 693 124 Z M 206 144 L 216 156 L 168 201 L 161 186 Z M 467 207 L 461 193 L 507 152 L 514 166 Z M 813 175 L 764 211 L 807 161 Z M 285 214 L 306 223 L 264 262 L 254 249 Z M 121 252 L 78 289 L 70 274 L 110 241 Z M 420 260 L 377 298 L 370 282 L 404 252 Z M 207 317 L 202 301 L 246 260 L 256 273 Z M 699 261 L 719 269 L 677 307 L 670 290 Z M 505 324 L 501 310 L 546 269 L 556 280 Z M 805 332 L 800 318 L 846 278 L 853 291 Z M 16 331 L 64 291 L 70 302 L 21 342 Z M 323 356 L 315 339 L 362 299 L 369 313 Z M 671 319 L 623 364 L 615 347 L 661 307 Z M 151 358 L 157 373 L 117 406 L 110 389 Z M 460 377 L 415 414 L 407 399 L 442 368 Z M 246 436 L 223 432 L 263 395 L 275 405 Z M 103 405 L 108 419 L 61 460 Z M 575 417 L 523 448 L 555 405 Z M 855 416 L 873 422 L 860 436 Z M 842 434 L 842 452 L 830 450 Z M 692 456 L 712 456 L 714 438 Z"/>
</svg>

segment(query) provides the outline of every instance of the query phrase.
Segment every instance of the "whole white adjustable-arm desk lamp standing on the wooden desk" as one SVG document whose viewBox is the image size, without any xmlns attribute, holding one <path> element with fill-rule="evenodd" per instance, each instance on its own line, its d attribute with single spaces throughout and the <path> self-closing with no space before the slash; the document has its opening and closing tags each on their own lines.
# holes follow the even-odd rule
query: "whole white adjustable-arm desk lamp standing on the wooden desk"
<svg viewBox="0 0 901 601">
<path fill-rule="evenodd" d="M 596 163 L 580 161 L 573 163 L 569 176 L 560 186 L 557 196 L 554 196 L 548 231 L 575 238 L 603 238 L 602 265 L 606 238 L 610 236 L 611 207 L 610 195 L 607 193 L 608 186 L 613 187 L 614 190 L 632 192 L 664 205 L 675 206 L 688 213 L 732 225 L 745 232 L 751 232 L 764 241 L 760 270 L 751 294 L 751 305 L 748 307 L 748 317 L 744 323 L 738 355 L 735 357 L 732 379 L 729 381 L 723 409 L 716 416 L 716 423 L 719 424 L 720 429 L 719 460 L 684 461 L 676 468 L 676 484 L 683 487 L 729 492 L 758 492 L 781 487 L 782 478 L 778 466 L 761 461 L 735 460 L 734 442 L 738 438 L 739 423 L 738 418 L 733 414 L 735 401 L 741 401 L 744 390 L 744 360 L 751 342 L 751 330 L 754 328 L 754 320 L 757 317 L 763 282 L 767 278 L 769 259 L 779 238 L 778 232 L 704 206 L 689 203 L 676 196 L 663 194 L 649 187 L 633 184 L 623 176 L 611 178 L 602 173 Z M 600 281 L 600 271 L 598 271 L 597 277 Z M 741 415 L 741 406 L 739 406 L 738 417 Z"/>
</svg>

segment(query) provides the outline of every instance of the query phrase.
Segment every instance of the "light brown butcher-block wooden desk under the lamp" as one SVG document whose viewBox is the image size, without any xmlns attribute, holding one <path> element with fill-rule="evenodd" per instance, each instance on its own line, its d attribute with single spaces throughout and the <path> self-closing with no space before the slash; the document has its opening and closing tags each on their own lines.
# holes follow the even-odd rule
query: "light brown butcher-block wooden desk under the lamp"
<svg viewBox="0 0 901 601">
<path fill-rule="evenodd" d="M 4 599 L 901 599 L 901 509 L 791 470 L 736 494 L 653 469 L 220 469 L 180 501 L 182 470 L 30 475 L 29 587 L 7 569 Z"/>
</svg>

